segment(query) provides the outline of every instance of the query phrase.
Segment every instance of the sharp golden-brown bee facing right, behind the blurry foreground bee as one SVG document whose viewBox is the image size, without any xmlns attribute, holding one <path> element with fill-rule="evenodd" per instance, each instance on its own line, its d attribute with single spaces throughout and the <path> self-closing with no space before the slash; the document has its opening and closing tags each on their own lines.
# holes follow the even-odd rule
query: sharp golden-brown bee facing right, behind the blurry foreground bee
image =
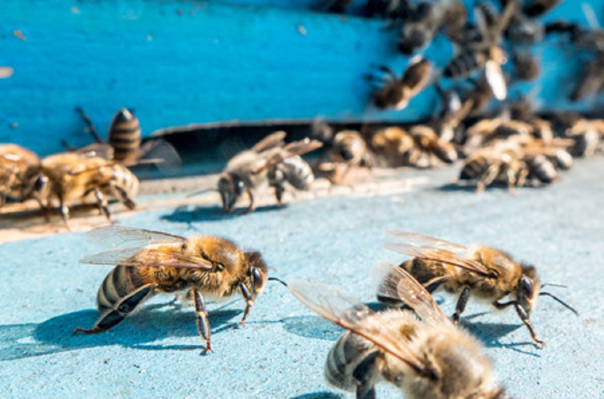
<svg viewBox="0 0 604 399">
<path fill-rule="evenodd" d="M 513 306 L 535 343 L 544 346 L 545 342 L 538 339 L 530 322 L 538 296 L 553 297 L 577 314 L 576 310 L 553 294 L 539 292 L 546 284 L 539 284 L 535 267 L 516 262 L 503 251 L 491 247 L 466 248 L 442 239 L 400 230 L 387 233 L 402 242 L 390 242 L 384 247 L 413 256 L 399 267 L 415 277 L 429 292 L 442 287 L 449 293 L 460 293 L 452 316 L 456 323 L 467 300 L 474 295 L 492 301 L 493 306 L 500 310 Z M 378 292 L 378 297 L 381 296 L 388 297 Z M 509 300 L 501 302 L 505 297 L 509 297 Z"/>
</svg>

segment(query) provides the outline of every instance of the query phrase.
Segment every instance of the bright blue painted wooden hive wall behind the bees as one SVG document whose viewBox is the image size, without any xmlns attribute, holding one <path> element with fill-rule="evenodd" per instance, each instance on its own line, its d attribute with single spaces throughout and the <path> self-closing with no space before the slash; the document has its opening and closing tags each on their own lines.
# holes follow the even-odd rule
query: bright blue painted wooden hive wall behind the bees
<svg viewBox="0 0 604 399">
<path fill-rule="evenodd" d="M 61 139 L 88 143 L 77 105 L 100 132 L 118 108 L 134 108 L 145 135 L 234 119 L 413 121 L 439 106 L 432 88 L 400 112 L 368 106 L 364 75 L 379 63 L 403 70 L 408 62 L 396 51 L 396 29 L 310 11 L 311 0 L 278 3 L 3 0 L 0 66 L 14 74 L 0 79 L 0 142 L 40 154 L 59 151 Z M 604 0 L 592 3 L 601 10 Z M 547 18 L 561 15 L 585 19 L 570 0 Z M 442 66 L 453 51 L 437 37 L 425 54 Z M 543 107 L 593 106 L 571 106 L 562 95 L 579 70 L 577 53 L 551 44 L 541 51 Z"/>
</svg>

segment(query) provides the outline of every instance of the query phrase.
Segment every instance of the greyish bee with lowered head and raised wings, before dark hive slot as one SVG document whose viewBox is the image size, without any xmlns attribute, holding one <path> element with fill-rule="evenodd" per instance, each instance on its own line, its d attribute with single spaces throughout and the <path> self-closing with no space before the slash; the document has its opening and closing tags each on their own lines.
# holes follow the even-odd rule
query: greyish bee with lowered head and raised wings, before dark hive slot
<svg viewBox="0 0 604 399">
<path fill-rule="evenodd" d="M 254 210 L 255 190 L 269 183 L 269 173 L 275 176 L 280 174 L 280 172 L 274 170 L 275 168 L 281 167 L 281 170 L 288 168 L 292 170 L 293 167 L 293 169 L 297 169 L 297 172 L 295 172 L 295 174 L 298 174 L 297 177 L 294 178 L 289 175 L 292 180 L 308 178 L 307 170 L 301 165 L 300 161 L 292 161 L 294 164 L 289 163 L 289 166 L 280 166 L 280 164 L 288 158 L 295 157 L 295 155 L 303 155 L 306 152 L 320 148 L 323 144 L 307 138 L 285 144 L 283 141 L 285 135 L 286 133 L 283 131 L 274 132 L 263 138 L 251 149 L 240 152 L 228 161 L 225 170 L 218 179 L 218 191 L 222 199 L 224 212 L 231 212 L 237 199 L 244 192 L 249 196 L 247 212 Z M 296 162 L 297 164 L 295 164 Z M 292 183 L 292 180 L 288 180 L 292 185 L 298 183 L 296 181 Z M 281 193 L 280 189 L 275 189 L 277 201 L 280 201 Z"/>
</svg>

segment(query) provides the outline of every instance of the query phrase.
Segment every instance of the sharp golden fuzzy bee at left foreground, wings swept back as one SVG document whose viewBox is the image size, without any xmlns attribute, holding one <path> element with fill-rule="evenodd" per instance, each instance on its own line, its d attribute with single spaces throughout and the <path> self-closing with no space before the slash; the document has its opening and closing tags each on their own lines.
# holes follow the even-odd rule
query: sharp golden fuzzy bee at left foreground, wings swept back
<svg viewBox="0 0 604 399">
<path fill-rule="evenodd" d="M 131 227 L 108 226 L 88 233 L 113 249 L 80 259 L 87 264 L 115 265 L 98 289 L 101 313 L 94 327 L 77 328 L 76 333 L 96 334 L 120 323 L 141 303 L 156 293 L 189 291 L 195 305 L 196 325 L 211 352 L 211 331 L 205 297 L 223 299 L 239 293 L 245 300 L 240 322 L 254 305 L 267 281 L 267 268 L 260 253 L 243 251 L 236 244 L 216 236 L 184 238 Z"/>
</svg>

